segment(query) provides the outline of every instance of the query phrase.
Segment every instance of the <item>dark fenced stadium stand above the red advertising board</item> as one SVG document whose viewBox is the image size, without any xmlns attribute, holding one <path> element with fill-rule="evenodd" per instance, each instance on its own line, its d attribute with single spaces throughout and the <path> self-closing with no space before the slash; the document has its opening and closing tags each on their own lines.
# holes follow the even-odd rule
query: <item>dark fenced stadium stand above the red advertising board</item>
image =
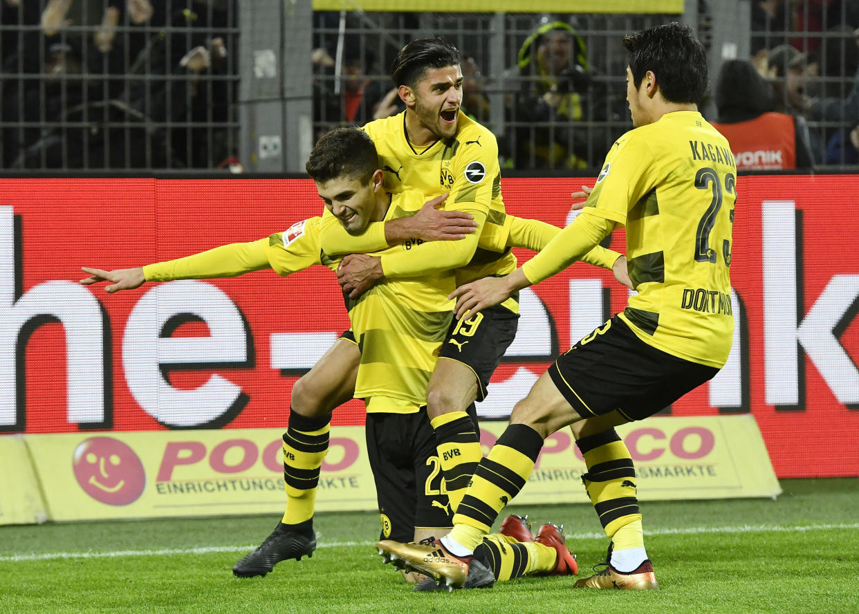
<svg viewBox="0 0 859 614">
<path fill-rule="evenodd" d="M 723 62 L 755 59 L 797 114 L 809 98 L 846 100 L 859 65 L 853 0 L 490 4 L 0 0 L 0 169 L 301 173 L 321 132 L 395 112 L 393 56 L 433 34 L 463 53 L 464 107 L 497 134 L 508 175 L 600 167 L 630 127 L 620 38 L 631 30 L 691 24 L 711 82 Z M 572 55 L 551 80 L 538 43 Z M 712 97 L 704 112 L 715 119 Z M 856 167 L 848 119 L 808 126 L 815 167 Z"/>
</svg>

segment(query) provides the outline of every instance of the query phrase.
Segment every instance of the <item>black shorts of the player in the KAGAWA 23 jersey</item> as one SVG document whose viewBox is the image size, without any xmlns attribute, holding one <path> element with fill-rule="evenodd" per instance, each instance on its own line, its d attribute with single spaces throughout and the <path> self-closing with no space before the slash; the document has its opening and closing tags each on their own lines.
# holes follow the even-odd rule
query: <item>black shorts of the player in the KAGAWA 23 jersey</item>
<svg viewBox="0 0 859 614">
<path fill-rule="evenodd" d="M 615 316 L 567 350 L 548 373 L 583 418 L 618 410 L 628 420 L 643 420 L 718 372 L 656 350 Z"/>
</svg>

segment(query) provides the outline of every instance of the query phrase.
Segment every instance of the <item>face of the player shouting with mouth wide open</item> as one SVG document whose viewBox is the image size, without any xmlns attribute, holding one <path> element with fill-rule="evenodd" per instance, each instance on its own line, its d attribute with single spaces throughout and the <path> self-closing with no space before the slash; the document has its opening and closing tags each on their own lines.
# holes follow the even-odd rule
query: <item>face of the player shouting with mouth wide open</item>
<svg viewBox="0 0 859 614">
<path fill-rule="evenodd" d="M 438 138 L 456 134 L 462 103 L 459 65 L 427 70 L 415 87 L 414 111 L 424 128 Z"/>
</svg>

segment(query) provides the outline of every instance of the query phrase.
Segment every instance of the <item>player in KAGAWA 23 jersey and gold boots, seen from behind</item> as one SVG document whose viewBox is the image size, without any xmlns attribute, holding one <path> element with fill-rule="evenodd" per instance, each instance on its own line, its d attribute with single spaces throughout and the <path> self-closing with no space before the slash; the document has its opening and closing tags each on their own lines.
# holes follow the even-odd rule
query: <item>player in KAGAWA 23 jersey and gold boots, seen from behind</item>
<svg viewBox="0 0 859 614">
<path fill-rule="evenodd" d="M 581 215 L 513 273 L 454 293 L 457 317 L 473 317 L 564 270 L 616 226 L 626 228 L 638 291 L 515 405 L 474 473 L 452 532 L 431 546 L 380 542 L 387 558 L 454 586 L 466 582 L 472 551 L 526 483 L 545 438 L 571 424 L 588 467 L 582 480 L 611 538 L 605 568 L 576 587 L 657 587 L 635 469 L 614 427 L 653 415 L 728 359 L 736 168 L 728 142 L 698 112 L 707 63 L 691 29 L 652 27 L 624 37 L 624 47 L 634 129 L 612 146 Z"/>
</svg>

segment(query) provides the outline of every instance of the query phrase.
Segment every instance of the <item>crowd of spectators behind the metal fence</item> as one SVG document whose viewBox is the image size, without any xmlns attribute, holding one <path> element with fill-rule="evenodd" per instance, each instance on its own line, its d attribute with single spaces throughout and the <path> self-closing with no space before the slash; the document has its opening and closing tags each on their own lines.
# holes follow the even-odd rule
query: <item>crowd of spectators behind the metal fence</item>
<svg viewBox="0 0 859 614">
<path fill-rule="evenodd" d="M 0 37 L 2 70 L 19 76 L 3 80 L 0 167 L 235 161 L 237 128 L 228 120 L 237 117 L 241 78 L 230 57 L 236 41 L 217 35 L 235 27 L 235 0 L 0 0 L 0 9 L 3 26 L 17 26 Z M 317 11 L 314 32 L 337 32 L 343 18 Z M 391 58 L 367 45 L 361 15 L 348 19 L 345 35 L 314 38 L 316 137 L 404 108 L 387 77 Z M 705 106 L 735 144 L 738 166 L 859 163 L 859 2 L 752 0 L 751 28 L 751 55 L 710 75 Z M 397 35 L 409 39 L 402 27 Z M 396 40 L 387 36 L 393 56 Z M 497 131 L 504 168 L 598 168 L 628 130 L 623 76 L 587 36 L 570 15 L 535 15 L 515 63 L 495 76 L 480 65 L 477 42 L 460 43 L 463 111 Z M 503 114 L 493 114 L 499 103 Z M 108 134 L 105 125 L 121 127 Z"/>
</svg>

